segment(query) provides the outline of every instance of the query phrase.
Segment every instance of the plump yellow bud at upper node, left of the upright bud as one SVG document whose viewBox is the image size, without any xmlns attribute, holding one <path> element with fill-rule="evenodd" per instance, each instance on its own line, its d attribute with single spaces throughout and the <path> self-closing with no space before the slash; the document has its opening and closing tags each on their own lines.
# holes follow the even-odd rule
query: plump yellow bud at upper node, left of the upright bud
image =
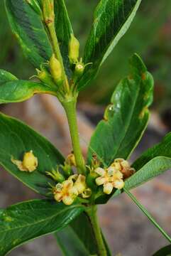
<svg viewBox="0 0 171 256">
<path fill-rule="evenodd" d="M 52 55 L 52 57 L 50 58 L 50 73 L 53 76 L 53 80 L 57 83 L 57 84 L 61 84 L 62 83 L 62 67 L 60 64 L 60 61 L 57 60 L 57 58 L 55 58 L 55 54 Z"/>
</svg>

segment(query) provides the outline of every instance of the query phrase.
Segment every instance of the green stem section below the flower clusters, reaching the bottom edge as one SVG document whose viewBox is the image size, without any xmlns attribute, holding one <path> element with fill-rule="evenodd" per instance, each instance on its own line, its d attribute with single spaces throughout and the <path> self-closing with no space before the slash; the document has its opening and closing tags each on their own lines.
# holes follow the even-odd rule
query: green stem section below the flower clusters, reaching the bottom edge
<svg viewBox="0 0 171 256">
<path fill-rule="evenodd" d="M 87 208 L 87 214 L 89 215 L 89 219 L 92 223 L 92 228 L 94 230 L 94 235 L 96 238 L 96 244 L 98 247 L 99 256 L 107 256 L 106 247 L 104 245 L 104 240 L 101 234 L 101 228 L 99 226 L 99 221 L 97 218 L 97 208 L 96 206 L 90 206 Z"/>
</svg>

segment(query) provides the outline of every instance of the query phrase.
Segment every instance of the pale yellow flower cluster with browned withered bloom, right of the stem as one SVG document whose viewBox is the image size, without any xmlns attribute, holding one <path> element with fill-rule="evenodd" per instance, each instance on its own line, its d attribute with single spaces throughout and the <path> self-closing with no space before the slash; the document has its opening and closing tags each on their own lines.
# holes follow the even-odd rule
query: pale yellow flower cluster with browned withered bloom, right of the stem
<svg viewBox="0 0 171 256">
<path fill-rule="evenodd" d="M 110 194 L 113 188 L 121 189 L 124 186 L 124 178 L 128 178 L 134 172 L 128 161 L 124 159 L 115 159 L 114 163 L 107 169 L 96 168 L 95 173 L 99 175 L 96 178 L 96 185 L 104 187 L 104 193 Z"/>
</svg>

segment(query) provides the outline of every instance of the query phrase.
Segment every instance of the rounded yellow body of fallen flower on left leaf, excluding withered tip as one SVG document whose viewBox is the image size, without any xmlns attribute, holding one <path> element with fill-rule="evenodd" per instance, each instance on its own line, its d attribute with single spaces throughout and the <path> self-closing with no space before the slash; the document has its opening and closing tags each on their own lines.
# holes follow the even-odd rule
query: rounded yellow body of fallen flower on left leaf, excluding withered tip
<svg viewBox="0 0 171 256">
<path fill-rule="evenodd" d="M 23 167 L 32 172 L 38 167 L 38 159 L 33 155 L 33 151 L 27 152 L 23 156 Z"/>
</svg>

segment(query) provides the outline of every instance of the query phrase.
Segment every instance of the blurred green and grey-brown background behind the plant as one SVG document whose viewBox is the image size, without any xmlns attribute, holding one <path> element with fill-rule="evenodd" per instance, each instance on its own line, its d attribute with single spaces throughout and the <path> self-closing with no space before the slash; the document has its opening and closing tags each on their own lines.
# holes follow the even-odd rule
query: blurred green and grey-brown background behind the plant
<svg viewBox="0 0 171 256">
<path fill-rule="evenodd" d="M 84 44 L 89 33 L 97 0 L 66 0 L 75 35 Z M 86 24 L 86 25 L 85 25 Z M 6 19 L 4 1 L 0 1 L 0 68 L 18 78 L 28 79 L 34 69 L 24 58 Z M 171 129 L 171 1 L 143 1 L 131 28 L 102 66 L 91 87 L 79 97 L 78 122 L 84 154 L 95 125 L 103 117 L 106 105 L 119 80 L 128 73 L 128 58 L 138 53 L 155 78 L 155 97 L 147 132 L 133 154 L 133 159 L 149 146 L 160 142 Z M 0 110 L 22 119 L 48 137 L 63 154 L 70 153 L 70 137 L 65 114 L 54 97 L 38 95 L 27 102 L 1 105 Z M 171 174 L 155 178 L 133 192 L 171 235 Z M 35 198 L 31 190 L 15 178 L 0 172 L 0 207 Z M 167 241 L 148 220 L 121 195 L 100 206 L 101 225 L 109 240 L 112 255 L 150 256 Z M 61 255 L 51 237 L 40 238 L 11 252 L 11 256 Z M 79 255 L 78 255 L 79 256 Z"/>
</svg>

